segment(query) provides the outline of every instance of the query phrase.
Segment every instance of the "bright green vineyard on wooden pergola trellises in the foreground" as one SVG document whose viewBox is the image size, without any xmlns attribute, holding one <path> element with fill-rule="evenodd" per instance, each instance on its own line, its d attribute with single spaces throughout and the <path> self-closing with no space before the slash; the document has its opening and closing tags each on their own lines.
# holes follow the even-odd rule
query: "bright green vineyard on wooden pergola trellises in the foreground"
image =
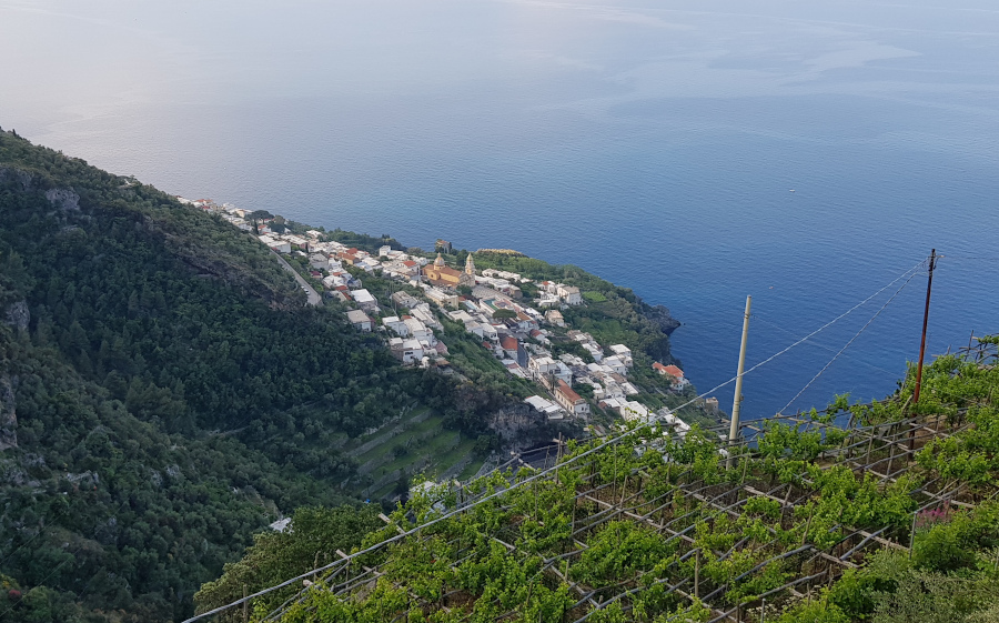
<svg viewBox="0 0 999 623">
<path fill-rule="evenodd" d="M 908 607 L 906 573 L 924 596 L 947 579 L 932 593 L 947 607 L 995 614 L 997 343 L 938 358 L 917 404 L 910 374 L 885 401 L 747 422 L 737 445 L 632 428 L 427 489 L 356 551 L 205 615 L 846 623 Z M 891 565 L 906 571 L 865 575 Z M 929 619 L 878 621 L 904 620 Z"/>
</svg>

